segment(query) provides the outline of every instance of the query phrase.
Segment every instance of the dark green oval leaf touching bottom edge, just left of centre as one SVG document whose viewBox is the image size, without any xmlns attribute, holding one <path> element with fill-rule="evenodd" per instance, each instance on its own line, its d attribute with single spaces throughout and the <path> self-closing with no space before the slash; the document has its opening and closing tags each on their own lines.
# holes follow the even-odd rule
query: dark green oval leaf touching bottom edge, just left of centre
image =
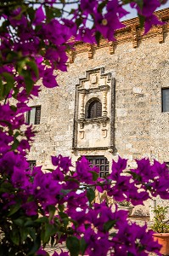
<svg viewBox="0 0 169 256">
<path fill-rule="evenodd" d="M 66 239 L 66 247 L 70 251 L 70 256 L 78 256 L 80 253 L 80 241 L 76 236 L 69 236 Z"/>
</svg>

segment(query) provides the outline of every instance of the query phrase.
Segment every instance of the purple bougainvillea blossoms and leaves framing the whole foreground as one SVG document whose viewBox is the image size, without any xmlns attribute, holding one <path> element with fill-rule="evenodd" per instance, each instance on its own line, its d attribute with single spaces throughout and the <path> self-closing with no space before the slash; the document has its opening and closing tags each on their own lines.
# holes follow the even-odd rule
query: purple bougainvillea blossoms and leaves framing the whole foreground
<svg viewBox="0 0 169 256">
<path fill-rule="evenodd" d="M 91 169 L 86 159 L 75 171 L 70 159 L 59 155 L 52 157 L 54 169 L 48 173 L 41 167 L 26 171 L 34 131 L 25 125 L 24 114 L 30 110 L 29 100 L 39 94 L 39 79 L 48 88 L 57 86 L 54 70 L 66 71 L 66 51 L 76 40 L 96 44 L 101 34 L 113 40 L 115 29 L 124 26 L 119 20 L 127 14 L 123 3 L 138 10 L 147 32 L 152 24 L 162 24 L 153 15 L 162 2 L 76 1 L 78 9 L 69 11 L 69 19 L 64 14 L 70 2 L 57 6 L 53 0 L 0 2 L 0 255 L 48 255 L 43 249 L 48 243 L 57 247 L 62 242 L 69 252 L 60 256 L 159 252 L 146 225 L 128 223 L 126 211 L 112 210 L 105 201 L 93 203 L 93 186 L 134 206 L 151 196 L 169 199 L 166 165 L 137 160 L 138 167 L 126 175 L 127 160 L 119 158 L 110 175 L 99 178 L 99 171 Z"/>
</svg>

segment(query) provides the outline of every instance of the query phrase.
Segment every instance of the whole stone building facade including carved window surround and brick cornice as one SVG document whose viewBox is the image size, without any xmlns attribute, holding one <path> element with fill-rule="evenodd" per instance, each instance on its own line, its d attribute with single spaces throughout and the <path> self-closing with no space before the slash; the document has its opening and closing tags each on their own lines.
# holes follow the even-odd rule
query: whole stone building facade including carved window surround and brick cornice
<svg viewBox="0 0 169 256">
<path fill-rule="evenodd" d="M 40 119 L 29 160 L 45 169 L 50 155 L 86 155 L 103 172 L 118 155 L 129 167 L 143 157 L 169 162 L 169 9 L 156 15 L 165 23 L 146 35 L 134 18 L 115 42 L 76 44 L 59 87 L 30 102 Z"/>
</svg>

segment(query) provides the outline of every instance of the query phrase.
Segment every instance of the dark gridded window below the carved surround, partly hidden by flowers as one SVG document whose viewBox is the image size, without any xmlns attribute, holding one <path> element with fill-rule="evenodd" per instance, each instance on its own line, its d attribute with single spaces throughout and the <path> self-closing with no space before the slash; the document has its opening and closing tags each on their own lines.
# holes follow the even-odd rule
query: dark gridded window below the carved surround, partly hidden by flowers
<svg viewBox="0 0 169 256">
<path fill-rule="evenodd" d="M 109 174 L 109 161 L 104 156 L 86 156 L 90 166 L 99 167 L 99 177 L 105 177 Z"/>
</svg>

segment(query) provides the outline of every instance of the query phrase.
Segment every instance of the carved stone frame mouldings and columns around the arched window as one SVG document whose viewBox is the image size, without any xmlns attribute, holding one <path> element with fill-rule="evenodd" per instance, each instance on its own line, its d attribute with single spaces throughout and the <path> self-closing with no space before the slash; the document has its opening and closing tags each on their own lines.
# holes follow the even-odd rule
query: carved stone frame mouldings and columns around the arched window
<svg viewBox="0 0 169 256">
<path fill-rule="evenodd" d="M 89 80 L 89 75 L 99 72 L 100 78 L 106 78 L 110 83 L 100 84 L 98 87 L 93 88 L 82 88 L 82 83 Z M 94 79 L 93 79 L 94 80 Z M 93 81 L 93 83 L 96 83 Z M 107 92 L 110 90 L 110 117 L 107 115 Z M 86 119 L 85 118 L 85 96 L 91 94 L 91 100 L 93 94 L 102 93 L 103 101 L 102 103 L 102 116 L 98 118 Z M 87 101 L 89 98 L 87 99 Z M 106 126 L 107 121 L 110 121 L 110 143 L 108 147 L 98 147 L 98 148 L 78 148 L 77 147 L 77 131 L 78 125 L 83 129 L 85 124 L 89 123 L 99 123 L 103 127 Z M 79 84 L 76 84 L 76 93 L 75 93 L 75 111 L 74 111 L 74 126 L 73 126 L 73 139 L 72 139 L 72 149 L 73 151 L 83 149 L 93 150 L 93 149 L 111 149 L 112 152 L 115 151 L 115 79 L 112 78 L 111 73 L 104 73 L 104 67 L 97 67 L 89 69 L 86 72 L 86 77 L 79 79 Z"/>
</svg>

